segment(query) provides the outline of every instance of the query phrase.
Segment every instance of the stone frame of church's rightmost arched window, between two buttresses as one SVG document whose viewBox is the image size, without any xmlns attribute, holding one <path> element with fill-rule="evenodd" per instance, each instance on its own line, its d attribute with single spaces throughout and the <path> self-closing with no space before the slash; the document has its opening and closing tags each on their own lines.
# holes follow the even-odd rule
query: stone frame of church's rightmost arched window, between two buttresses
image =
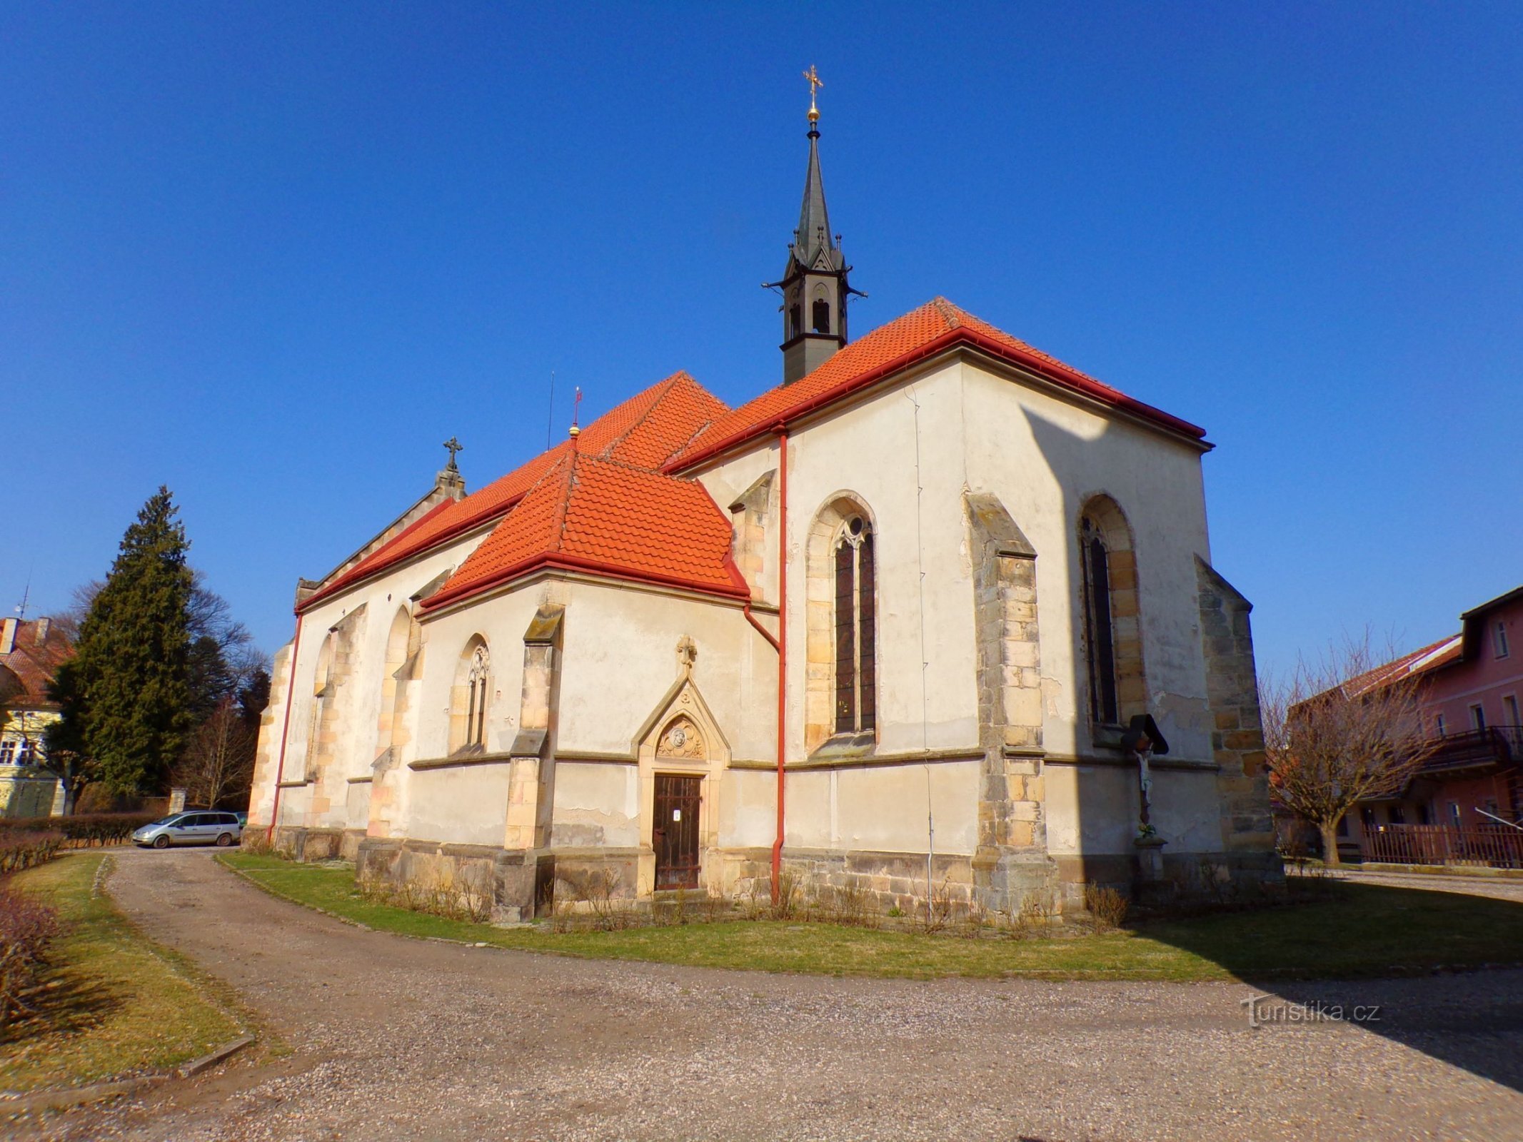
<svg viewBox="0 0 1523 1142">
<path fill-rule="evenodd" d="M 1125 512 L 1106 492 L 1087 496 L 1075 521 L 1078 544 L 1078 618 L 1080 656 L 1084 661 L 1083 685 L 1089 725 L 1119 729 L 1135 714 L 1147 713 L 1147 668 L 1142 652 L 1141 592 L 1136 542 Z M 1097 635 L 1092 600 L 1089 541 L 1098 538 L 1106 551 L 1106 609 L 1109 611 L 1110 658 L 1115 685 L 1115 722 L 1103 717 L 1097 694 Z"/>
</svg>

